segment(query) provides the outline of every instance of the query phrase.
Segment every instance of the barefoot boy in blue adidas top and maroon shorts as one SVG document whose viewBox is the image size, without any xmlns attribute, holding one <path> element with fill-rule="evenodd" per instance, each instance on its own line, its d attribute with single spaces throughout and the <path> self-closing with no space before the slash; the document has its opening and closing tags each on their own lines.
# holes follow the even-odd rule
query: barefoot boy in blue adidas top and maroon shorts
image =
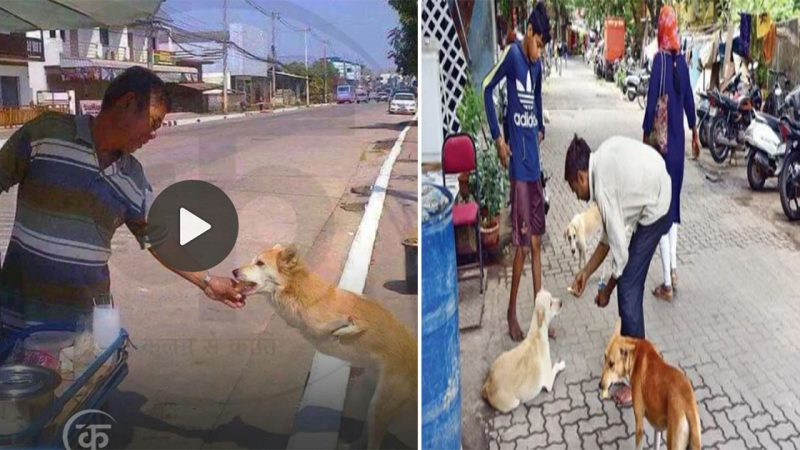
<svg viewBox="0 0 800 450">
<path fill-rule="evenodd" d="M 541 236 L 544 234 L 544 194 L 539 170 L 539 144 L 544 140 L 542 122 L 542 63 L 540 53 L 550 41 L 550 23 L 544 3 L 528 17 L 523 41 L 506 46 L 500 60 L 483 80 L 483 101 L 497 156 L 508 168 L 511 180 L 512 242 L 516 247 L 508 303 L 508 332 L 520 341 L 517 291 L 528 248 L 533 266 L 534 297 L 542 286 Z M 506 80 L 508 135 L 501 136 L 492 92 Z M 511 148 L 509 149 L 509 145 Z"/>
</svg>

